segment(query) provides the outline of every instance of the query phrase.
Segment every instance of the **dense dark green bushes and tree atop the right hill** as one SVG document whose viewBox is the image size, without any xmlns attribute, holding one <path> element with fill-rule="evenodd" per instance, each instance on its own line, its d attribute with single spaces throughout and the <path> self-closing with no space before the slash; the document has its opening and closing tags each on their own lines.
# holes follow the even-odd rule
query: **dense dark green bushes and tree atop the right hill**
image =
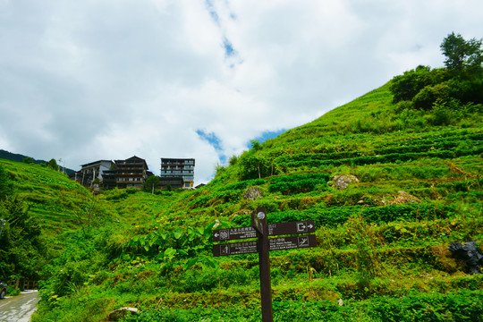
<svg viewBox="0 0 483 322">
<path fill-rule="evenodd" d="M 394 77 L 394 103 L 419 110 L 481 112 L 483 104 L 483 49 L 481 40 L 448 35 L 441 44 L 445 69 L 418 66 Z M 444 121 L 444 120 L 441 120 Z M 440 125 L 445 125 L 441 122 Z"/>
</svg>

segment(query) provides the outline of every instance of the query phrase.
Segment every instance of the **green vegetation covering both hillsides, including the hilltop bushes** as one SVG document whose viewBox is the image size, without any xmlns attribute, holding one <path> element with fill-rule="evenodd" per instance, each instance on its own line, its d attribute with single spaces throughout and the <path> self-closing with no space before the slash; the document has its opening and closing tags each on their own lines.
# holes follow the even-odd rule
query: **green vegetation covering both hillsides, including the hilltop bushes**
<svg viewBox="0 0 483 322">
<path fill-rule="evenodd" d="M 124 321 L 258 321 L 258 256 L 213 258 L 211 234 L 250 225 L 265 207 L 269 223 L 317 226 L 318 247 L 270 254 L 275 321 L 481 320 L 482 275 L 467 275 L 447 250 L 483 243 L 482 102 L 473 96 L 482 77 L 472 62 L 418 67 L 253 140 L 196 191 L 93 195 L 48 167 L 0 160 L 0 196 L 10 200 L 2 216 L 19 202 L 10 229 L 11 218 L 31 218 L 19 225 L 44 245 L 23 242 L 38 256 L 31 267 L 17 267 L 4 246 L 0 261 L 13 278 L 40 279 L 34 321 L 101 321 L 126 306 L 140 314 Z M 343 188 L 337 176 L 356 179 Z"/>
</svg>

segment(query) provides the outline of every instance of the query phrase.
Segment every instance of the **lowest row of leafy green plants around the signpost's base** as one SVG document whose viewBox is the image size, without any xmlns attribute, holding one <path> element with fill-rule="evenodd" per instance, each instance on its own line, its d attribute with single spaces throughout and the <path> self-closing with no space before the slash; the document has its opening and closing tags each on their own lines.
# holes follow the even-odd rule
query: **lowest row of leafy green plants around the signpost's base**
<svg viewBox="0 0 483 322">
<path fill-rule="evenodd" d="M 273 301 L 275 321 L 480 321 L 483 292 L 413 294 L 399 298 L 376 296 L 365 301 Z M 259 321 L 259 306 L 229 309 L 153 309 L 123 318 L 134 321 Z"/>
</svg>

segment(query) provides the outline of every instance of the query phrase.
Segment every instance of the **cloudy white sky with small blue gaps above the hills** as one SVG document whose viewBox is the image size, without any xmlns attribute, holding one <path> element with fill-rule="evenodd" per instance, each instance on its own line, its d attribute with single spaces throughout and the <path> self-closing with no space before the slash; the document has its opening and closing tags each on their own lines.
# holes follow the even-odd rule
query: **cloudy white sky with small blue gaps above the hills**
<svg viewBox="0 0 483 322">
<path fill-rule="evenodd" d="M 0 148 L 216 165 L 419 64 L 481 0 L 0 0 Z"/>
</svg>

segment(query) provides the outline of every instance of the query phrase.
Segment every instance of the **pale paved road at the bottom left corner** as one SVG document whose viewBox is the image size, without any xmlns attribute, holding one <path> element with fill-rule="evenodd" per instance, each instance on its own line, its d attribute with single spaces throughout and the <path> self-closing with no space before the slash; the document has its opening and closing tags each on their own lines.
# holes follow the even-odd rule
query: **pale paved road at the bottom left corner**
<svg viewBox="0 0 483 322">
<path fill-rule="evenodd" d="M 40 300 L 37 291 L 21 292 L 0 301 L 0 322 L 29 322 Z"/>
</svg>

